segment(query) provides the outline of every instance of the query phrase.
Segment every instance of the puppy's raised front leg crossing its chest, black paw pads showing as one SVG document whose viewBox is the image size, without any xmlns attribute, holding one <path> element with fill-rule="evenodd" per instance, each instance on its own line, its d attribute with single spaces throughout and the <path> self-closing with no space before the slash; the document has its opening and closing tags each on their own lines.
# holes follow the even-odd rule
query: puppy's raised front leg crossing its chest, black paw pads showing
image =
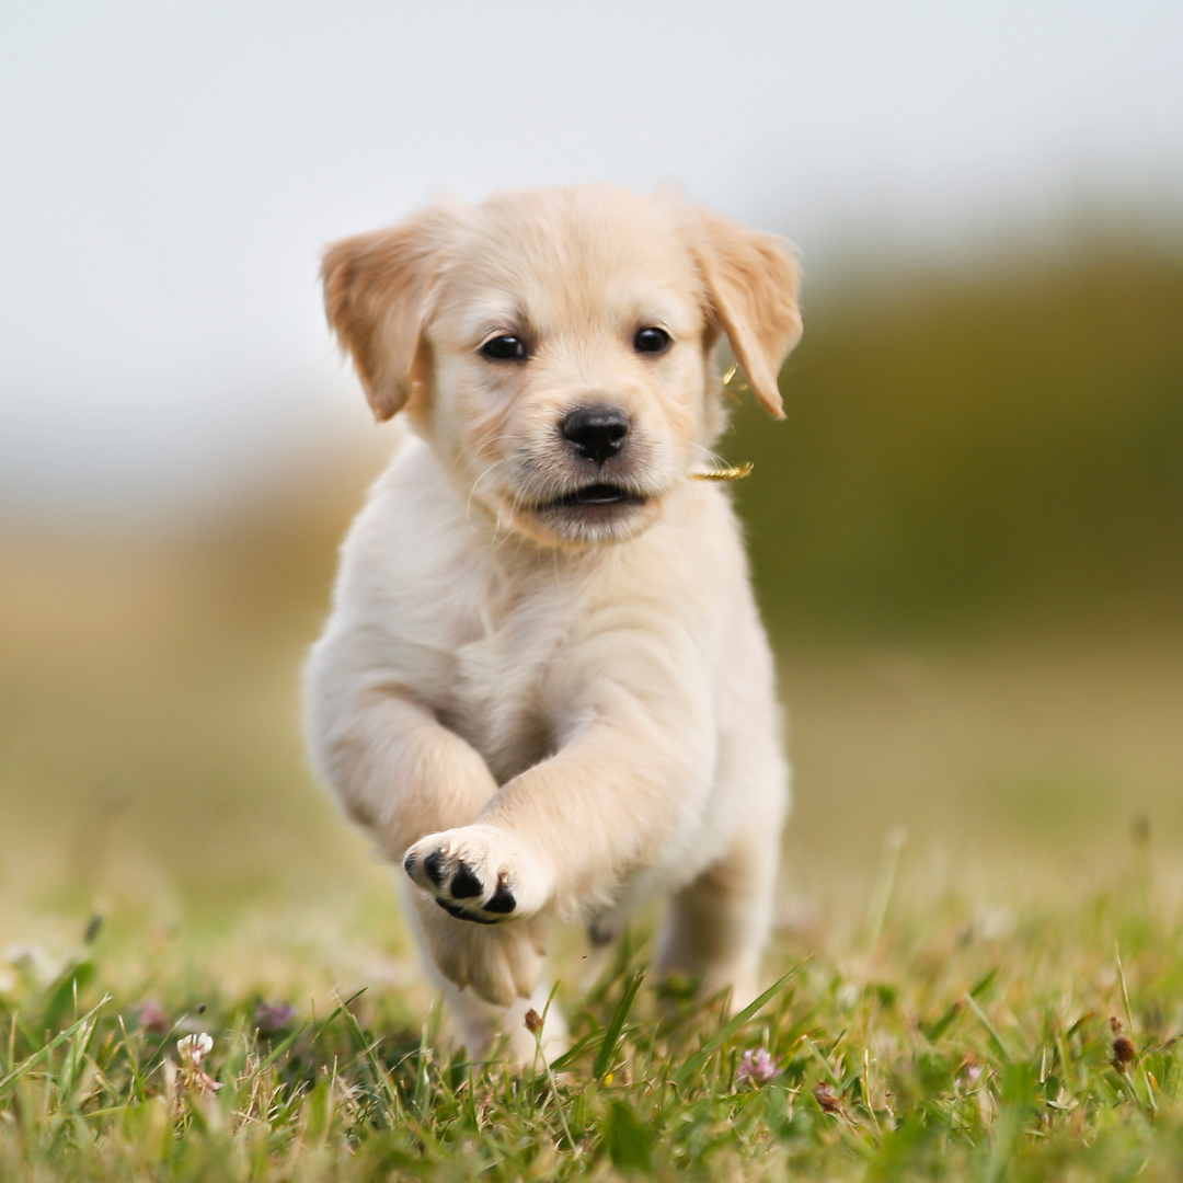
<svg viewBox="0 0 1183 1183">
<path fill-rule="evenodd" d="M 578 693 L 558 752 L 506 783 L 474 825 L 411 847 L 407 873 L 438 906 L 484 925 L 575 918 L 608 905 L 628 872 L 678 856 L 713 771 L 706 679 L 668 653 L 646 655 L 618 661 L 612 681 L 602 661 L 586 680 L 564 670 Z"/>
</svg>

